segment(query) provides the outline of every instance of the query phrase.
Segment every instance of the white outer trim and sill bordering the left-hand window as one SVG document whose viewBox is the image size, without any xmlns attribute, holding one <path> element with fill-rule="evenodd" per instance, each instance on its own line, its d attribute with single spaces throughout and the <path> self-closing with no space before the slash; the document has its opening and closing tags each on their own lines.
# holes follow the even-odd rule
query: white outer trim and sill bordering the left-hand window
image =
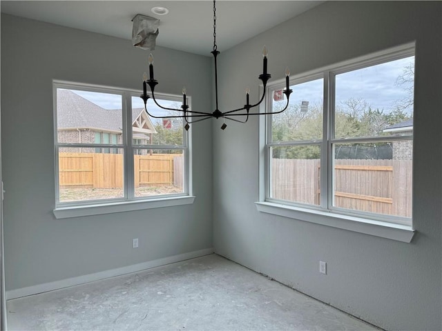
<svg viewBox="0 0 442 331">
<path fill-rule="evenodd" d="M 135 96 L 140 95 L 140 91 L 124 89 L 124 88 L 112 88 L 108 86 L 96 86 L 90 85 L 87 83 L 73 83 L 70 81 L 60 81 L 53 80 L 52 81 L 52 94 L 53 94 L 53 102 L 54 102 L 54 148 L 55 148 L 55 190 L 57 201 L 55 204 L 55 209 L 52 210 L 55 218 L 57 219 L 66 219 L 72 217 L 85 217 L 99 214 L 112 214 L 115 212 L 129 212 L 133 210 L 146 210 L 153 208 L 167 208 L 173 207 L 177 205 L 188 205 L 192 204 L 195 201 L 195 196 L 192 195 L 192 168 L 191 168 L 191 132 L 184 131 L 184 167 L 186 171 L 184 172 L 184 192 L 181 194 L 168 194 L 163 196 L 156 197 L 133 197 L 133 194 L 130 194 L 128 184 L 124 184 L 124 198 L 121 199 L 106 199 L 102 201 L 78 201 L 72 203 L 60 203 L 58 201 L 59 197 L 59 171 L 58 171 L 58 148 L 57 148 L 57 109 L 55 106 L 57 105 L 57 88 L 67 88 L 72 90 L 90 90 L 93 92 L 104 92 L 104 93 L 116 93 L 122 94 L 123 100 L 123 108 L 131 109 L 131 97 L 126 99 L 127 102 L 124 102 L 125 96 Z M 179 99 L 179 97 L 172 94 L 165 93 L 157 93 L 158 97 L 164 97 L 167 99 Z M 189 104 L 191 104 L 191 97 L 188 97 Z M 133 145 L 132 139 L 132 126 L 126 125 L 126 123 L 131 123 L 132 112 L 126 111 L 126 117 L 123 118 L 123 126 L 128 128 L 125 130 L 125 134 L 123 137 L 123 142 L 121 144 L 117 144 L 117 146 L 109 144 L 104 146 L 104 148 L 123 148 L 124 152 L 129 155 L 133 154 L 133 150 L 137 148 L 137 146 Z M 84 146 L 88 144 L 83 144 Z M 83 146 L 82 145 L 82 146 Z M 93 144 L 95 145 L 95 144 Z M 155 146 L 157 148 L 158 146 Z M 168 147 L 176 148 L 176 146 L 162 146 L 163 149 L 167 149 Z M 131 157 L 124 157 L 124 174 L 126 176 L 126 182 L 133 183 L 133 159 Z"/>
</svg>

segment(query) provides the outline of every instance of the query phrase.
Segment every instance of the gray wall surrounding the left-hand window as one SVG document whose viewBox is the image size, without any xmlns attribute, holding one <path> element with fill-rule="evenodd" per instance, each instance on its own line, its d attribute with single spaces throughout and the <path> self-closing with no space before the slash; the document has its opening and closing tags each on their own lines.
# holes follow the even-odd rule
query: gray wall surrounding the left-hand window
<svg viewBox="0 0 442 331">
<path fill-rule="evenodd" d="M 211 126 L 192 127 L 193 205 L 55 219 L 52 79 L 140 89 L 147 51 L 130 40 L 1 15 L 6 290 L 212 247 Z M 211 106 L 211 59 L 158 47 L 159 92 Z M 197 94 L 198 92 L 198 94 Z M 140 239 L 133 250 L 132 239 Z"/>
</svg>

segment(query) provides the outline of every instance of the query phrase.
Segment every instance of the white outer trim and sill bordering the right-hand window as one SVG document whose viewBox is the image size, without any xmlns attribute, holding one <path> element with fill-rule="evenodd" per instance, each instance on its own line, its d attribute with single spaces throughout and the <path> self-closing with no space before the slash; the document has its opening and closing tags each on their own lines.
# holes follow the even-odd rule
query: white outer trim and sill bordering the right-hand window
<svg viewBox="0 0 442 331">
<path fill-rule="evenodd" d="M 396 52 L 398 54 L 403 54 L 404 52 L 407 52 L 407 50 L 414 50 L 414 48 L 415 43 L 407 43 L 403 46 L 398 46 L 396 48 L 391 48 L 390 50 L 369 54 L 358 59 L 353 59 L 352 61 L 345 61 L 343 63 L 337 63 L 333 66 L 327 66 L 318 70 L 314 70 L 312 72 L 305 72 L 304 74 L 300 74 L 298 77 L 292 77 L 292 79 L 299 79 L 298 81 L 302 81 L 302 79 L 305 79 L 304 77 L 315 77 L 320 72 L 333 71 L 334 73 L 336 73 L 339 72 L 339 69 L 337 68 L 340 67 L 345 67 L 348 70 L 350 63 L 367 61 L 367 59 L 370 59 L 373 64 L 376 64 L 378 63 L 378 59 L 385 58 L 385 54 L 390 54 L 391 57 L 394 57 L 394 53 Z M 357 68 L 358 64 L 355 64 L 354 66 Z M 367 64 L 367 66 L 369 66 L 369 64 Z M 275 88 L 277 86 L 283 87 L 284 81 L 282 79 L 280 81 L 276 81 L 276 83 L 273 83 L 267 88 L 270 90 L 270 88 Z M 325 104 L 329 102 L 329 100 L 327 100 L 328 97 L 328 95 L 325 96 Z M 261 105 L 260 111 L 265 112 L 267 107 L 269 107 L 267 103 L 265 105 Z M 412 241 L 414 233 L 416 232 L 414 228 L 412 228 L 412 225 L 403 225 L 398 223 L 391 223 L 389 221 L 352 216 L 349 214 L 340 214 L 338 212 L 334 212 L 333 210 L 316 210 L 313 206 L 312 208 L 310 208 L 310 206 L 309 208 L 303 208 L 300 205 L 283 204 L 280 201 L 269 201 L 266 197 L 266 190 L 269 184 L 269 176 L 267 174 L 268 157 L 266 146 L 267 117 L 260 117 L 259 132 L 259 201 L 256 202 L 256 208 L 259 212 L 287 217 L 290 219 L 297 219 L 299 221 L 307 221 L 309 223 L 325 225 L 332 228 L 349 230 L 362 234 L 369 234 L 385 239 L 402 241 L 405 243 L 410 243 Z M 321 159 L 323 159 L 322 155 Z"/>
</svg>

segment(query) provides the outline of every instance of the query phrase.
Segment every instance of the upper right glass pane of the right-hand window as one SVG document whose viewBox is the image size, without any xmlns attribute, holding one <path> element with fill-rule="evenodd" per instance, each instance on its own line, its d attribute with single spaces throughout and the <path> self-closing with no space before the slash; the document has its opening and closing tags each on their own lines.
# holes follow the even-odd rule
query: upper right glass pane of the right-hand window
<svg viewBox="0 0 442 331">
<path fill-rule="evenodd" d="M 336 75 L 335 137 L 412 134 L 414 57 Z"/>
</svg>

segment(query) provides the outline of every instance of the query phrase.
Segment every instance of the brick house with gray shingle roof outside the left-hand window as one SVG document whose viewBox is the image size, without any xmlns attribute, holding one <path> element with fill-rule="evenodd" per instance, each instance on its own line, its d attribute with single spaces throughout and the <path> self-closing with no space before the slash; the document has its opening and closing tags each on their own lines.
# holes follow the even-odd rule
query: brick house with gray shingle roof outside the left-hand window
<svg viewBox="0 0 442 331">
<path fill-rule="evenodd" d="M 70 90 L 57 90 L 59 143 L 122 143 L 122 110 L 107 110 Z M 132 110 L 133 143 L 152 141 L 157 133 L 144 108 Z M 65 152 L 117 154 L 117 148 L 65 148 Z"/>
</svg>

